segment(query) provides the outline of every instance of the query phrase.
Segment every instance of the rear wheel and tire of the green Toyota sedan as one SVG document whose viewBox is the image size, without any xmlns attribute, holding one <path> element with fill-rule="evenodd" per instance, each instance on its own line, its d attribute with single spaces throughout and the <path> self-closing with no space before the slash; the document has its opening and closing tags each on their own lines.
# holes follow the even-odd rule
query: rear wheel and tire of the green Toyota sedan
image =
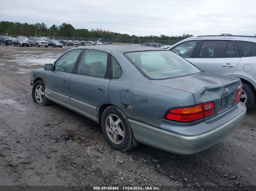
<svg viewBox="0 0 256 191">
<path fill-rule="evenodd" d="M 133 148 L 133 132 L 125 114 L 115 106 L 105 109 L 101 118 L 102 131 L 108 144 L 118 151 Z"/>
</svg>

